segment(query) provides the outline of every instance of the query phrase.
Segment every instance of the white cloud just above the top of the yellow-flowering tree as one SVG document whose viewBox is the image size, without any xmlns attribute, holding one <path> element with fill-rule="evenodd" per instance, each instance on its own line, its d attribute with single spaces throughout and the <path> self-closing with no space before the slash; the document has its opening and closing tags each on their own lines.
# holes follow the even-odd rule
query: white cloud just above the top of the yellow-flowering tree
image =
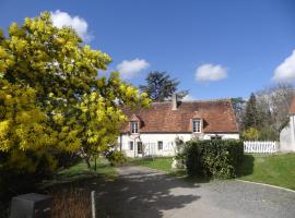
<svg viewBox="0 0 295 218">
<path fill-rule="evenodd" d="M 71 26 L 73 29 L 76 31 L 78 35 L 84 41 L 91 41 L 93 36 L 88 33 L 88 24 L 87 22 L 80 17 L 80 16 L 71 16 L 67 12 L 62 11 L 55 11 L 51 13 L 51 20 L 55 26 L 62 27 L 62 26 Z"/>
</svg>

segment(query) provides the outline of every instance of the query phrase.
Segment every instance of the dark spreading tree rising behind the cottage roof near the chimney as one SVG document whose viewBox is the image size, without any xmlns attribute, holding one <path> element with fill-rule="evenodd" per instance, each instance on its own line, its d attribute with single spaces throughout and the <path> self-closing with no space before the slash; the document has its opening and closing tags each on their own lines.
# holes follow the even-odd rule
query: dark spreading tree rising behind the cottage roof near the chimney
<svg viewBox="0 0 295 218">
<path fill-rule="evenodd" d="M 179 81 L 170 78 L 166 72 L 153 71 L 145 78 L 146 85 L 140 85 L 139 88 L 146 93 L 153 101 L 164 101 L 169 99 L 177 92 Z M 178 92 L 178 97 L 184 98 L 188 90 Z"/>
</svg>

